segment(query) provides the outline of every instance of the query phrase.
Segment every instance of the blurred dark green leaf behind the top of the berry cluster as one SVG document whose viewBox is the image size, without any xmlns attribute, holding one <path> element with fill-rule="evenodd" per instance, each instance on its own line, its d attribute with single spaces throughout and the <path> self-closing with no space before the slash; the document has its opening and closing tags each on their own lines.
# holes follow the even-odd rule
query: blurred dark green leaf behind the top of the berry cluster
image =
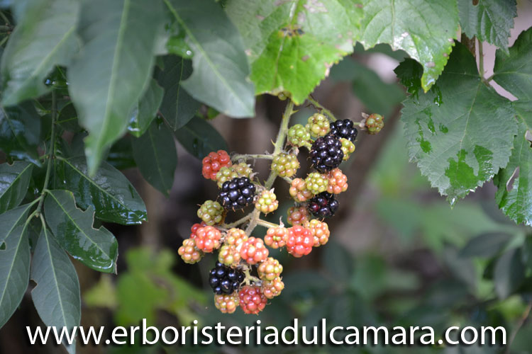
<svg viewBox="0 0 532 354">
<path fill-rule="evenodd" d="M 331 79 L 353 81 L 353 92 L 370 112 L 388 115 L 404 99 L 397 84 L 387 84 L 372 69 L 352 60 L 343 59 L 331 69 Z"/>
</svg>

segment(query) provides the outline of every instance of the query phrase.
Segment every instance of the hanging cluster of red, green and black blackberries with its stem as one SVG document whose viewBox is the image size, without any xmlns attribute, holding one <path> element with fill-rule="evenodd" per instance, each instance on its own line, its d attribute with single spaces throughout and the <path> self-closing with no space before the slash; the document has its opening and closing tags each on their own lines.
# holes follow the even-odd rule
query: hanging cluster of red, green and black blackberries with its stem
<svg viewBox="0 0 532 354">
<path fill-rule="evenodd" d="M 309 100 L 314 101 L 313 98 Z M 266 246 L 272 249 L 286 247 L 288 253 L 299 258 L 309 254 L 313 247 L 326 244 L 330 232 L 328 225 L 320 219 L 334 215 L 338 210 L 334 195 L 348 188 L 347 177 L 338 168 L 344 160 L 340 139 L 347 139 L 351 144 L 355 142 L 358 130 L 353 121 L 336 120 L 332 113 L 327 113 L 328 118 L 316 113 L 309 117 L 306 127 L 294 125 L 289 128 L 293 113 L 294 103 L 289 102 L 272 154 L 234 154 L 230 159 L 226 151 L 218 150 L 209 152 L 202 161 L 201 171 L 207 179 L 219 182 L 218 175 L 227 174 L 224 169 L 234 175 L 221 185 L 218 183 L 221 188 L 219 202 L 206 200 L 199 207 L 198 217 L 203 222 L 192 226 L 189 239 L 183 241 L 178 253 L 184 262 L 196 263 L 204 253 L 219 249 L 218 262 L 209 273 L 209 285 L 214 290 L 216 308 L 223 313 L 231 314 L 240 306 L 246 314 L 258 314 L 265 308 L 267 299 L 280 295 L 284 288 L 282 265 L 277 259 L 268 257 Z M 379 117 L 379 130 L 384 127 L 381 115 L 369 117 L 372 116 Z M 369 134 L 379 132 L 372 130 L 367 120 L 359 124 L 359 127 L 367 127 Z M 294 130 L 297 132 L 291 134 Z M 290 139 L 294 136 L 297 139 Z M 310 149 L 312 164 L 318 172 L 309 173 L 305 179 L 292 179 L 299 168 L 299 147 Z M 270 176 L 263 183 L 246 165 L 246 161 L 257 159 L 272 161 Z M 244 167 L 240 170 L 245 173 L 239 173 L 239 169 L 233 166 Z M 290 184 L 289 193 L 297 203 L 288 211 L 288 222 L 294 225 L 292 227 L 284 227 L 282 222 L 267 222 L 260 217 L 275 211 L 279 205 L 277 195 L 271 189 L 277 177 Z M 252 204 L 255 209 L 248 215 L 229 224 L 224 222 L 226 212 L 242 210 Z M 311 219 L 311 215 L 318 219 Z M 251 236 L 257 225 L 267 227 L 262 238 Z"/>
</svg>

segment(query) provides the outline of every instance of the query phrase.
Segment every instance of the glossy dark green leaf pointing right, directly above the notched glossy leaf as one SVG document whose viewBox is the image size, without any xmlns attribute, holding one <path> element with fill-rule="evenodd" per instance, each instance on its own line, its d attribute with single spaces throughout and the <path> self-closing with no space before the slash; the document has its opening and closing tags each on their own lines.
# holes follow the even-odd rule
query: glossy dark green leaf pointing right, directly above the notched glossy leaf
<svg viewBox="0 0 532 354">
<path fill-rule="evenodd" d="M 92 178 L 83 156 L 57 159 L 55 189 L 72 190 L 79 207 L 94 207 L 95 216 L 106 222 L 129 225 L 146 220 L 146 206 L 133 185 L 106 162 Z"/>
</svg>

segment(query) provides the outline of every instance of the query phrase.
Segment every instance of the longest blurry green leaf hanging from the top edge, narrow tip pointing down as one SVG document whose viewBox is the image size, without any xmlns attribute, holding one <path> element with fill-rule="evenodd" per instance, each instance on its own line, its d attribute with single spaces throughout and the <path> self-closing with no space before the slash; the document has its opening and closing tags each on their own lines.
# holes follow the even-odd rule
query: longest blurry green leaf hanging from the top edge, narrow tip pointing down
<svg viewBox="0 0 532 354">
<path fill-rule="evenodd" d="M 79 18 L 83 47 L 68 68 L 69 91 L 85 140 L 89 172 L 128 126 L 133 105 L 150 81 L 157 34 L 165 20 L 160 1 L 85 0 Z"/>
</svg>

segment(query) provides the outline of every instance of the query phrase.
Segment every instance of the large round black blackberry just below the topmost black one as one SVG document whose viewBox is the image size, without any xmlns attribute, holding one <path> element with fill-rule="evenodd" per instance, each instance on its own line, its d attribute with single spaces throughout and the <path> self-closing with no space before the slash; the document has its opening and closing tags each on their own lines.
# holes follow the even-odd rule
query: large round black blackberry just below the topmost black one
<svg viewBox="0 0 532 354">
<path fill-rule="evenodd" d="M 343 159 L 342 142 L 332 134 L 319 137 L 312 144 L 310 156 L 314 169 L 319 172 L 326 173 L 336 169 Z"/>
</svg>

